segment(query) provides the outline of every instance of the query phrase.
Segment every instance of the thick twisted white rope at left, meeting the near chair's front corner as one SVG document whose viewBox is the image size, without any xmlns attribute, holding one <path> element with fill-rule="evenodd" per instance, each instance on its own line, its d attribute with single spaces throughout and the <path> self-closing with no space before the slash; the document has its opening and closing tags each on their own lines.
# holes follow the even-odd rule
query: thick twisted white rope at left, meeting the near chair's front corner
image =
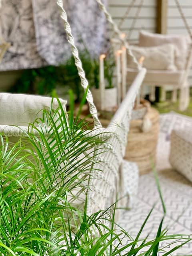
<svg viewBox="0 0 192 256">
<path fill-rule="evenodd" d="M 67 40 L 68 40 L 69 44 L 71 45 L 72 54 L 74 56 L 75 64 L 76 64 L 76 67 L 78 69 L 78 74 L 79 74 L 80 79 L 81 79 L 81 85 L 84 88 L 84 90 L 86 90 L 88 88 L 88 81 L 85 77 L 85 72 L 82 68 L 82 62 L 79 58 L 79 53 L 78 53 L 78 50 L 75 46 L 74 37 L 72 36 L 72 33 L 71 33 L 71 27 L 70 27 L 70 24 L 68 23 L 68 20 L 67 20 L 67 14 L 66 14 L 66 12 L 63 8 L 63 1 L 58 0 L 57 4 L 62 9 L 61 18 L 64 20 L 64 26 L 65 26 L 65 30 L 66 30 L 66 34 L 67 34 Z M 92 97 L 92 94 L 91 94 L 89 89 L 88 89 L 88 92 L 87 92 L 87 95 L 86 95 L 86 100 L 89 104 L 90 114 L 93 117 L 94 128 L 102 128 L 102 125 L 101 125 L 101 123 L 98 119 L 97 109 L 96 109 L 96 107 L 93 103 L 93 97 Z"/>
</svg>

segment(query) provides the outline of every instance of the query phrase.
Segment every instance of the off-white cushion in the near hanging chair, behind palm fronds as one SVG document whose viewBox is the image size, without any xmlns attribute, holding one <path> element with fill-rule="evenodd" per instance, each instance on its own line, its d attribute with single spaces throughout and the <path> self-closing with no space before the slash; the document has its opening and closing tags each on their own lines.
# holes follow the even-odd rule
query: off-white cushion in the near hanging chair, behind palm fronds
<svg viewBox="0 0 192 256">
<path fill-rule="evenodd" d="M 29 95 L 0 93 L 0 124 L 28 126 L 36 118 L 42 117 L 42 109 L 50 109 L 52 98 Z M 60 99 L 66 112 L 66 100 Z M 58 108 L 58 101 L 53 100 L 52 109 Z"/>
</svg>

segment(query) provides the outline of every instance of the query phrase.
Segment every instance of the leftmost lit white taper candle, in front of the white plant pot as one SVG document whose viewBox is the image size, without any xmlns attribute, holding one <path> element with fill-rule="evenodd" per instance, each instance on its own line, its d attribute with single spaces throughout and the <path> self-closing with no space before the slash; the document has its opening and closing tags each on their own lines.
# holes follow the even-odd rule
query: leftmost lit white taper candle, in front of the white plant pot
<svg viewBox="0 0 192 256">
<path fill-rule="evenodd" d="M 99 66 L 99 90 L 100 90 L 100 108 L 104 110 L 105 105 L 105 75 L 104 75 L 104 58 L 105 54 L 100 55 L 100 66 Z"/>
</svg>

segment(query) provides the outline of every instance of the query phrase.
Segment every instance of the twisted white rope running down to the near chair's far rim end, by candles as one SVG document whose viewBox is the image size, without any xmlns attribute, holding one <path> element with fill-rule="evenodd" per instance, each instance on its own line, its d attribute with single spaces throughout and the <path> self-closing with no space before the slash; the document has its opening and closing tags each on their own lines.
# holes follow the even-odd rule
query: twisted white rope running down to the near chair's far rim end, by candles
<svg viewBox="0 0 192 256">
<path fill-rule="evenodd" d="M 127 54 L 132 58 L 132 61 L 136 64 L 136 68 L 138 70 L 140 70 L 142 68 L 141 65 L 138 63 L 137 59 L 133 55 L 132 50 L 129 48 L 128 43 L 126 42 L 125 38 L 122 38 L 122 32 L 119 30 L 117 24 L 114 23 L 114 21 L 112 20 L 111 14 L 106 10 L 106 7 L 104 6 L 104 4 L 102 3 L 101 0 L 96 0 L 96 2 L 98 3 L 100 9 L 104 12 L 108 22 L 112 25 L 114 32 L 116 34 L 118 34 L 120 40 L 123 42 L 124 46 L 127 49 Z"/>
</svg>

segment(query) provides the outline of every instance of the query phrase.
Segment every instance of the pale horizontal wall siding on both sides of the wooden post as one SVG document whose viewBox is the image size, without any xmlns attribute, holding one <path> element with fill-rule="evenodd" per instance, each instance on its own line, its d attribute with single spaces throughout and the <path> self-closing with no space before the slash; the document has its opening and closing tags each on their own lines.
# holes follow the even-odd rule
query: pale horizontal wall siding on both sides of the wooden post
<svg viewBox="0 0 192 256">
<path fill-rule="evenodd" d="M 128 6 L 130 6 L 132 0 L 108 0 L 109 12 L 112 14 L 112 18 L 119 24 L 121 18 L 124 16 Z M 136 0 L 134 8 L 130 11 L 129 16 L 122 24 L 121 30 L 128 33 L 132 20 L 136 14 L 140 0 Z M 180 0 L 180 4 L 183 8 L 184 14 L 192 28 L 192 0 Z M 139 19 L 136 22 L 135 29 L 132 31 L 130 42 L 136 42 L 140 29 L 147 30 L 149 32 L 156 31 L 156 0 L 144 0 L 144 6 L 140 12 Z M 174 0 L 168 0 L 168 34 L 183 34 L 186 35 L 187 31 L 178 12 Z M 192 71 L 190 74 L 190 84 L 192 84 Z"/>
</svg>

